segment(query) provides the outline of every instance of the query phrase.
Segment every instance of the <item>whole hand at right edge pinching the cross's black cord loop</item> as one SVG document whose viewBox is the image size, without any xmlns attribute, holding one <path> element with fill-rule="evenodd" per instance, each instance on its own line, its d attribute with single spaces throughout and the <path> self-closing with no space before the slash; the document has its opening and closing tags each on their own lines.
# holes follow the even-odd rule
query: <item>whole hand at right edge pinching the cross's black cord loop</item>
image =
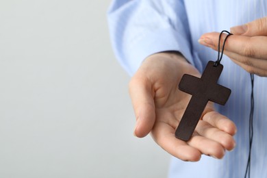
<svg viewBox="0 0 267 178">
<path fill-rule="evenodd" d="M 267 17 L 231 28 L 224 53 L 249 73 L 267 77 Z M 219 33 L 203 34 L 199 42 L 218 51 Z M 225 40 L 224 34 L 221 43 Z"/>
</svg>

